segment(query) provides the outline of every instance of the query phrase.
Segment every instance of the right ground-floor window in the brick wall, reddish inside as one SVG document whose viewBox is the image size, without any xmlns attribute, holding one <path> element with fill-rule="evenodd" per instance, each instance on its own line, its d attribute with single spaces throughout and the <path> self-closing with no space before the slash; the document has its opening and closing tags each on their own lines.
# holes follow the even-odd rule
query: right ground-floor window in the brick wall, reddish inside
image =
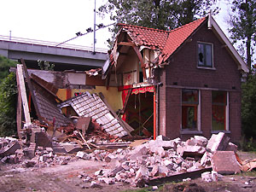
<svg viewBox="0 0 256 192">
<path fill-rule="evenodd" d="M 227 130 L 227 92 L 212 91 L 212 131 Z"/>
</svg>

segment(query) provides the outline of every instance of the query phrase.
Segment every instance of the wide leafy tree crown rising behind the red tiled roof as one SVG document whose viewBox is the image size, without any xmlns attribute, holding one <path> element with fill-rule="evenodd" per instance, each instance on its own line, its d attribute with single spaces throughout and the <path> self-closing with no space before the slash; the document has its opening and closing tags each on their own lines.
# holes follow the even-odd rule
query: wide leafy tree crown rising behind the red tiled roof
<svg viewBox="0 0 256 192">
<path fill-rule="evenodd" d="M 136 26 L 172 30 L 208 14 L 218 0 L 108 0 L 99 15 Z M 213 10 L 218 13 L 218 8 Z M 117 28 L 112 30 L 113 34 Z"/>
</svg>

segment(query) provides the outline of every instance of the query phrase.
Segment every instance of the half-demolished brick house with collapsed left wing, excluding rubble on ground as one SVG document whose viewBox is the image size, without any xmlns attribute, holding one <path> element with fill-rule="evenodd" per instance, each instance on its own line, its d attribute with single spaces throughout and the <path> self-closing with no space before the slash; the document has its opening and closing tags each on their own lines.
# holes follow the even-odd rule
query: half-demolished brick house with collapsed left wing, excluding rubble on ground
<svg viewBox="0 0 256 192">
<path fill-rule="evenodd" d="M 172 31 L 118 25 L 102 68 L 27 73 L 29 110 L 40 122 L 58 127 L 87 117 L 116 137 L 185 140 L 222 131 L 241 138 L 241 77 L 248 69 L 212 15 Z"/>
</svg>

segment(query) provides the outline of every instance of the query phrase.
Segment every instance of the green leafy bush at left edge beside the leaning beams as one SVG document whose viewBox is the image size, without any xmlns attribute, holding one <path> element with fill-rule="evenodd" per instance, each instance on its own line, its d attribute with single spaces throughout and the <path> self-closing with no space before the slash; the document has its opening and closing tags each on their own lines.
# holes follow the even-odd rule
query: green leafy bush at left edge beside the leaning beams
<svg viewBox="0 0 256 192">
<path fill-rule="evenodd" d="M 16 133 L 17 87 L 15 73 L 10 73 L 0 84 L 0 137 Z"/>
</svg>

